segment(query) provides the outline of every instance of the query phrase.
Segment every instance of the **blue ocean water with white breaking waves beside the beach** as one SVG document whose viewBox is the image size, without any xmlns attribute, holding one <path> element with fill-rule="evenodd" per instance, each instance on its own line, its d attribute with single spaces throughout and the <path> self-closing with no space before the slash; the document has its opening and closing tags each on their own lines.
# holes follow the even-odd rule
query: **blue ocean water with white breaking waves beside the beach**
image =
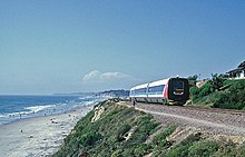
<svg viewBox="0 0 245 157">
<path fill-rule="evenodd" d="M 82 96 L 0 96 L 0 125 L 22 118 L 66 112 L 104 98 Z"/>
</svg>

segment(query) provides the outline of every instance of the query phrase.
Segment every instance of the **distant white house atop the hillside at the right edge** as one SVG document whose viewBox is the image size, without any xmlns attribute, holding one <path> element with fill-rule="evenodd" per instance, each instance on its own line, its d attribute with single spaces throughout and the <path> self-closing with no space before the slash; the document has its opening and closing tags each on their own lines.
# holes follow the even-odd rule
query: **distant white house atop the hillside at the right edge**
<svg viewBox="0 0 245 157">
<path fill-rule="evenodd" d="M 227 72 L 232 79 L 245 79 L 245 61 L 243 61 L 236 69 Z"/>
</svg>

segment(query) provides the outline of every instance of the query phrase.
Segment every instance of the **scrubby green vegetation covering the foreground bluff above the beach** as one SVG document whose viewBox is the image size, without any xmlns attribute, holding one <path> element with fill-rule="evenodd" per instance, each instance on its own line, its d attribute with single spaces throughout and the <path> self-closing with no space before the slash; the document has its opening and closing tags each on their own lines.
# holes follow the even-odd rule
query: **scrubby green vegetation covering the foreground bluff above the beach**
<svg viewBox="0 0 245 157">
<path fill-rule="evenodd" d="M 117 105 L 117 101 L 104 101 L 80 119 L 53 157 L 143 157 L 149 154 L 163 157 L 222 157 L 245 154 L 244 145 L 210 141 L 202 138 L 202 134 L 193 134 L 176 144 L 168 137 L 177 126 L 159 131 L 160 125 L 153 116 Z M 101 115 L 98 108 L 104 108 Z M 91 122 L 95 116 L 99 118 Z"/>
</svg>

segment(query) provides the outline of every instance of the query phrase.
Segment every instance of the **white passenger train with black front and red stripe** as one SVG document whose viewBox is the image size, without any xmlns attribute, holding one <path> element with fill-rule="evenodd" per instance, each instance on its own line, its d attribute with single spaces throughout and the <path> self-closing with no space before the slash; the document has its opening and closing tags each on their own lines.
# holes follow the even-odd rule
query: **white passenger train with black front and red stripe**
<svg viewBox="0 0 245 157">
<path fill-rule="evenodd" d="M 189 84 L 185 78 L 168 78 L 135 86 L 129 98 L 143 102 L 184 105 L 189 98 Z"/>
</svg>

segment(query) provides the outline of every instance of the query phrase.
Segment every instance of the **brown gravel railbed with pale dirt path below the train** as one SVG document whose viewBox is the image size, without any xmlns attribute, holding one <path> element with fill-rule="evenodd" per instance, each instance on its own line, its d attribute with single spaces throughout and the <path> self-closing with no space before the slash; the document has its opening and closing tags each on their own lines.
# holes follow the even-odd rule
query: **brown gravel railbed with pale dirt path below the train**
<svg viewBox="0 0 245 157">
<path fill-rule="evenodd" d="M 129 101 L 120 104 L 133 107 Z M 212 134 L 245 136 L 245 111 L 243 110 L 145 102 L 138 102 L 135 108 L 151 114 L 163 125 L 176 124 L 199 128 Z"/>
</svg>

